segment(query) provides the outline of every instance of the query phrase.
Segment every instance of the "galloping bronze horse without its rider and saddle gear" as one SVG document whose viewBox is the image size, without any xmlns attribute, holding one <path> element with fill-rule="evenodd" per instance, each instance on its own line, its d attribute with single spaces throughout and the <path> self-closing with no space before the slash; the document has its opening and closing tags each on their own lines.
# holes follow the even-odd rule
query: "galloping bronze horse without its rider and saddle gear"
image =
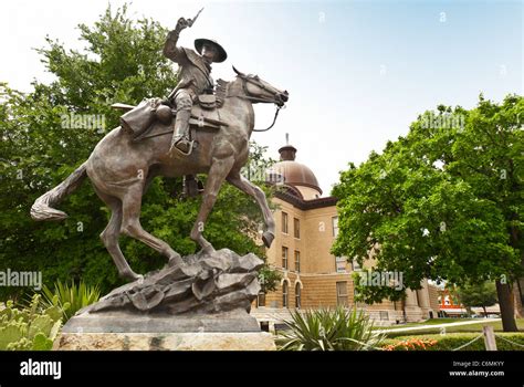
<svg viewBox="0 0 524 387">
<path fill-rule="evenodd" d="M 32 208 L 34 220 L 61 220 L 67 217 L 53 207 L 75 190 L 87 176 L 98 197 L 111 209 L 112 215 L 105 230 L 101 233 L 107 251 L 113 258 L 120 276 L 138 280 L 127 263 L 118 245 L 120 233 L 135 238 L 166 255 L 169 264 L 180 265 L 184 261 L 169 244 L 151 236 L 140 226 L 142 197 L 156 176 L 180 177 L 184 175 L 207 174 L 203 200 L 192 227 L 190 238 L 203 252 L 214 251 L 203 236 L 203 226 L 217 200 L 224 180 L 252 196 L 260 206 L 266 230 L 262 239 L 270 247 L 274 239 L 274 220 L 264 192 L 241 176 L 240 170 L 248 161 L 249 139 L 254 128 L 253 103 L 274 103 L 283 106 L 287 92 L 280 91 L 256 75 L 245 75 L 233 67 L 237 79 L 227 83 L 220 117 L 228 126 L 218 132 L 197 130 L 198 148 L 189 156 L 169 156 L 169 140 L 157 135 L 168 127 L 154 124 L 150 137 L 139 143 L 117 127 L 96 145 L 90 158 L 60 185 L 38 198 Z"/>
</svg>

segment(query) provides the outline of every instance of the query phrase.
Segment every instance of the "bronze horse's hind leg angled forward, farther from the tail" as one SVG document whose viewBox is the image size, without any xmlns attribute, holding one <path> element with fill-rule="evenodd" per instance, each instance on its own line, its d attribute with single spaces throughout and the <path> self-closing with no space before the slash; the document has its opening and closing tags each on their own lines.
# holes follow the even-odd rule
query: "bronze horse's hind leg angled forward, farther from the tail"
<svg viewBox="0 0 524 387">
<path fill-rule="evenodd" d="M 120 231 L 128 237 L 135 238 L 148 247 L 155 249 L 169 260 L 169 265 L 182 265 L 184 261 L 179 253 L 171 249 L 163 240 L 151 236 L 140 224 L 143 187 L 135 185 L 129 188 L 122 200 L 123 219 Z"/>
</svg>

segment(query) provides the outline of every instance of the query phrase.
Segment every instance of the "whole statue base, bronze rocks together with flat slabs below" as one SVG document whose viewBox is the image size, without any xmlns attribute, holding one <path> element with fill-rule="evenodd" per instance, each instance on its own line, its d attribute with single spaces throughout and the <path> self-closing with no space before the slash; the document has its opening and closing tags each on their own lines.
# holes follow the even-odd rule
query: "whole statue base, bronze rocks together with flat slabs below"
<svg viewBox="0 0 524 387">
<path fill-rule="evenodd" d="M 273 351 L 249 314 L 263 261 L 222 249 L 113 290 L 64 325 L 55 349 Z"/>
</svg>

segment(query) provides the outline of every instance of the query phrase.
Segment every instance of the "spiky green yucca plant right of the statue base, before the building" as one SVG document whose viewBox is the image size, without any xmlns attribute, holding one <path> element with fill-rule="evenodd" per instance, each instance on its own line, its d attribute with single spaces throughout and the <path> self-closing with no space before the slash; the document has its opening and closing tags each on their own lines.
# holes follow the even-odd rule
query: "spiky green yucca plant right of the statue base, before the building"
<svg viewBox="0 0 524 387">
<path fill-rule="evenodd" d="M 291 312 L 290 331 L 276 337 L 281 351 L 380 349 L 384 334 L 374 332 L 373 321 L 356 308 Z"/>
</svg>

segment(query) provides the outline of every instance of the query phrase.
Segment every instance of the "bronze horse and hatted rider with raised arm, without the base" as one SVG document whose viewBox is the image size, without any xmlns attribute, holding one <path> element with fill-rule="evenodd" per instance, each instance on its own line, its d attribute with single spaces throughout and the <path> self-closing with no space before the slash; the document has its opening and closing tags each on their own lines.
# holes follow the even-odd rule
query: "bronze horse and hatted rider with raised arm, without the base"
<svg viewBox="0 0 524 387">
<path fill-rule="evenodd" d="M 174 93 L 167 100 L 145 101 L 135 112 L 124 114 L 122 125 L 101 139 L 90 158 L 38 198 L 31 208 L 35 220 L 66 218 L 66 213 L 53 207 L 88 177 L 112 211 L 101 233 L 102 241 L 119 275 L 128 280 L 140 275 L 130 269 L 120 251 L 122 233 L 157 250 L 169 264 L 184 265 L 179 253 L 140 224 L 142 198 L 156 176 L 208 175 L 202 205 L 190 233 L 205 252 L 214 251 L 202 230 L 224 180 L 256 200 L 266 227 L 262 237 L 265 245 L 270 247 L 274 238 L 275 223 L 264 192 L 241 176 L 240 170 L 248 161 L 249 139 L 254 129 L 253 104 L 272 103 L 282 107 L 289 94 L 234 67 L 235 80 L 219 80 L 213 91 L 210 65 L 226 60 L 226 51 L 211 40 L 196 41 L 200 55 L 176 45 L 180 31 L 191 27 L 195 19 L 180 19 L 169 32 L 164 49 L 166 56 L 179 63 L 180 83 Z"/>
</svg>

